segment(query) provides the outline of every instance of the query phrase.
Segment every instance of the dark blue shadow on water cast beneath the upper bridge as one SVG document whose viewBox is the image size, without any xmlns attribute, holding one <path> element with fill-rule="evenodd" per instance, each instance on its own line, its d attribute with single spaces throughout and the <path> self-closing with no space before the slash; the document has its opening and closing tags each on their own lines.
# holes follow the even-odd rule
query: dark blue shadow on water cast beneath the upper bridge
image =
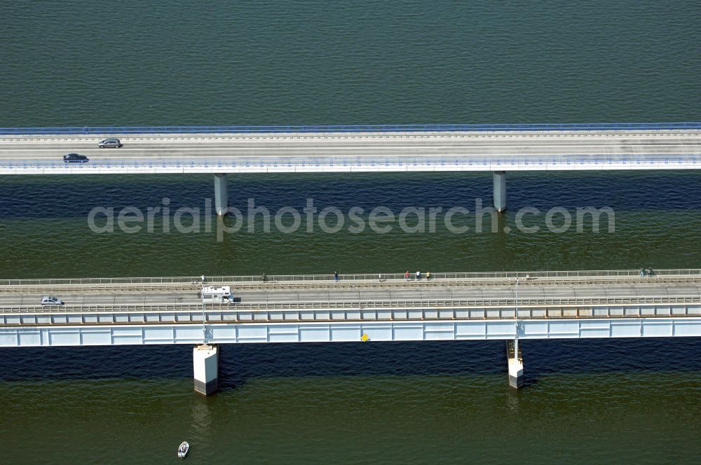
<svg viewBox="0 0 701 465">
<path fill-rule="evenodd" d="M 0 218 L 87 218 L 94 207 L 161 206 L 168 197 L 171 212 L 179 207 L 204 208 L 212 198 L 212 175 L 103 175 L 20 176 L 0 179 Z M 275 211 L 294 207 L 301 211 L 307 197 L 319 208 L 333 206 L 370 209 L 383 205 L 393 211 L 407 206 L 460 204 L 472 210 L 475 199 L 491 199 L 488 173 L 368 173 L 355 174 L 247 174 L 233 176 L 236 196 L 231 207 L 247 211 L 247 199 Z M 649 186 L 655 186 L 651 195 Z M 616 210 L 698 209 L 701 176 L 690 172 L 518 172 L 510 173 L 508 202 L 512 207 L 547 210 L 555 205 L 575 209 L 587 205 Z M 75 199 L 82 199 L 76 202 Z M 463 204 L 460 202 L 465 202 Z"/>
</svg>

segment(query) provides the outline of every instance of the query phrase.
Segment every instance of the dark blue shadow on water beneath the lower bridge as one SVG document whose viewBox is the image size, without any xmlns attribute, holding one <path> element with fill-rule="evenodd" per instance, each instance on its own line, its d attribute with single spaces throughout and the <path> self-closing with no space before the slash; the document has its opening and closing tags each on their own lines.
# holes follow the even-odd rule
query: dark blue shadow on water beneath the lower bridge
<svg viewBox="0 0 701 465">
<path fill-rule="evenodd" d="M 503 341 L 222 345 L 219 384 L 257 377 L 505 374 Z M 701 338 L 526 340 L 526 382 L 557 373 L 701 370 Z M 0 380 L 191 378 L 191 345 L 0 349 Z"/>
</svg>

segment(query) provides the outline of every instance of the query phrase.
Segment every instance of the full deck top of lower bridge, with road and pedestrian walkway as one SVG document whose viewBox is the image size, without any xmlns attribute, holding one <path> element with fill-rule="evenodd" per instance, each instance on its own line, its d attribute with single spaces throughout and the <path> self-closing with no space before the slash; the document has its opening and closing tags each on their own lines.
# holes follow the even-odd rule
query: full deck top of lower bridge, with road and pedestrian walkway
<svg viewBox="0 0 701 465">
<path fill-rule="evenodd" d="M 201 312 L 205 308 L 237 312 L 382 307 L 512 308 L 517 305 L 522 309 L 549 307 L 557 310 L 562 306 L 586 305 L 693 305 L 701 303 L 701 275 L 691 274 L 695 271 L 698 270 L 659 270 L 655 277 L 631 276 L 634 270 L 610 271 L 608 275 L 591 272 L 592 276 L 580 275 L 580 272 L 558 272 L 562 276 L 536 278 L 529 275 L 529 278 L 519 281 L 519 286 L 515 285 L 515 279 L 510 281 L 505 277 L 417 281 L 405 280 L 400 278 L 401 275 L 388 275 L 389 279 L 372 281 L 363 279 L 365 275 L 344 275 L 346 279 L 335 282 L 315 279 L 324 275 L 311 275 L 304 280 L 287 277 L 289 280 L 279 283 L 254 282 L 238 277 L 243 284 L 233 285 L 234 303 L 214 306 L 203 306 L 197 293 L 201 284 L 188 281 L 189 278 L 115 279 L 116 282 L 111 284 L 99 284 L 102 289 L 93 287 L 94 282 L 102 279 L 8 280 L 4 286 L 0 285 L 0 312 Z M 671 275 L 671 272 L 677 275 Z M 449 274 L 438 275 L 445 277 Z M 46 282 L 48 284 L 44 284 Z M 211 278 L 208 282 L 233 284 L 225 277 Z M 41 296 L 49 291 L 64 300 L 66 305 L 41 307 Z"/>
</svg>

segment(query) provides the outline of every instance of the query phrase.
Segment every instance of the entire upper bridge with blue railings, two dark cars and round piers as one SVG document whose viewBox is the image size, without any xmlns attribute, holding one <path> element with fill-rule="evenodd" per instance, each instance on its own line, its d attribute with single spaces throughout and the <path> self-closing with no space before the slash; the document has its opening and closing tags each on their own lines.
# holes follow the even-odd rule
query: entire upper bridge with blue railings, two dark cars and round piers
<svg viewBox="0 0 701 465">
<path fill-rule="evenodd" d="M 508 171 L 700 168 L 701 123 L 0 128 L 0 174 L 212 173 L 217 214 L 229 173 L 493 172 L 503 211 Z"/>
</svg>

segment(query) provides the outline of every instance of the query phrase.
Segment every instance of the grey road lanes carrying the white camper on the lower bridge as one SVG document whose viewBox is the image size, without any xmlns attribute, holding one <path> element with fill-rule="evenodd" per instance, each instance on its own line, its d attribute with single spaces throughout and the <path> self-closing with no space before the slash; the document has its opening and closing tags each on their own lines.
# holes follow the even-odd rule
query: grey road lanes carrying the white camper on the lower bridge
<svg viewBox="0 0 701 465">
<path fill-rule="evenodd" d="M 435 284 L 435 283 L 431 283 Z M 238 310 L 243 305 L 256 304 L 264 308 L 267 305 L 290 303 L 294 307 L 319 307 L 327 303 L 362 303 L 372 306 L 372 303 L 404 302 L 416 303 L 407 306 L 422 306 L 423 303 L 440 301 L 443 303 L 466 301 L 474 305 L 498 305 L 509 303 L 514 305 L 516 299 L 522 305 L 577 305 L 592 302 L 601 303 L 639 303 L 651 300 L 655 302 L 674 302 L 683 299 L 687 302 L 701 303 L 701 283 L 693 282 L 658 282 L 655 279 L 641 280 L 631 283 L 598 283 L 598 284 L 552 284 L 531 283 L 521 285 L 517 291 L 514 285 L 494 286 L 461 286 L 456 284 L 437 284 L 428 286 L 426 282 L 393 282 L 382 284 L 358 284 L 353 288 L 337 286 L 336 284 L 317 284 L 309 288 L 278 288 L 268 287 L 267 284 L 257 284 L 245 289 L 234 289 L 236 297 L 233 305 L 225 304 L 224 308 Z M 66 303 L 62 309 L 56 307 L 39 307 L 44 293 L 30 289 L 22 291 L 6 291 L 0 293 L 0 312 L 14 310 L 15 312 L 50 312 L 52 310 L 76 310 L 90 307 L 94 311 L 109 310 L 111 307 L 124 305 L 147 305 L 158 309 L 161 305 L 165 310 L 172 310 L 182 305 L 200 311 L 201 301 L 196 291 L 74 291 L 67 288 L 63 293 L 55 295 Z M 175 307 L 174 307 L 175 306 Z M 208 305 L 205 305 L 207 307 Z M 356 305 L 353 305 L 356 306 Z M 222 307 L 221 305 L 219 307 Z"/>
</svg>

